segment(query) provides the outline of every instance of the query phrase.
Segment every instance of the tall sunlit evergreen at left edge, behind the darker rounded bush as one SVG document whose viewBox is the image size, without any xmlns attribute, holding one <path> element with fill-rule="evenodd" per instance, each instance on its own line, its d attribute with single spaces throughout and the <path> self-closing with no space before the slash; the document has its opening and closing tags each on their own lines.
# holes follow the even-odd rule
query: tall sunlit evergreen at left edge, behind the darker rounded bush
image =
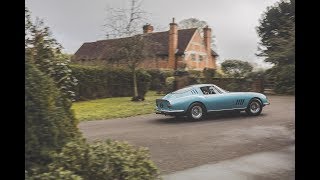
<svg viewBox="0 0 320 180">
<path fill-rule="evenodd" d="M 72 87 L 77 84 L 77 79 L 72 76 L 68 56 L 61 53 L 62 46 L 52 37 L 49 27 L 40 19 L 35 23 L 31 14 L 25 8 L 25 55 L 43 73 L 49 75 L 58 89 L 65 97 L 65 103 L 71 106 L 70 100 L 74 98 Z"/>
</svg>

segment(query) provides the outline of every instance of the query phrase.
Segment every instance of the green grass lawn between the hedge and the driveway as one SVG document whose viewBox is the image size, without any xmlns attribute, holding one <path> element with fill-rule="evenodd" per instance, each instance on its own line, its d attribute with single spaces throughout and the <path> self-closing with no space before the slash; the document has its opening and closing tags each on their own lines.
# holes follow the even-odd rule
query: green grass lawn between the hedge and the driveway
<svg viewBox="0 0 320 180">
<path fill-rule="evenodd" d="M 72 109 L 79 121 L 122 118 L 154 112 L 155 100 L 164 95 L 149 91 L 144 101 L 132 102 L 131 97 L 105 98 L 75 102 Z"/>
</svg>

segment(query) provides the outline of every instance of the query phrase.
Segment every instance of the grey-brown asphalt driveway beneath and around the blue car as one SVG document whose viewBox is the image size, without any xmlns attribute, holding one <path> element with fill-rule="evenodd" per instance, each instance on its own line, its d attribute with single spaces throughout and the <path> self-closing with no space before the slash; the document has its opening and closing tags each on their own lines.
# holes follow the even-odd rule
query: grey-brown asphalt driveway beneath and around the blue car
<svg viewBox="0 0 320 180">
<path fill-rule="evenodd" d="M 110 138 L 148 147 L 162 174 L 170 174 L 294 146 L 295 97 L 268 98 L 271 104 L 256 117 L 217 113 L 190 121 L 149 114 L 82 122 L 79 128 L 89 141 Z M 293 178 L 294 167 L 286 174 Z"/>
</svg>

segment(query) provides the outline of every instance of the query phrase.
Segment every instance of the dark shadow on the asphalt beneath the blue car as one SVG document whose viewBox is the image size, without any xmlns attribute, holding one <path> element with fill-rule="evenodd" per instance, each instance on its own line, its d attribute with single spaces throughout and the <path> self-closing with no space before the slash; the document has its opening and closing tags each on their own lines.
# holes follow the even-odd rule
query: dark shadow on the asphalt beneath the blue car
<svg viewBox="0 0 320 180">
<path fill-rule="evenodd" d="M 261 113 L 259 116 L 249 116 L 245 112 L 241 113 L 234 113 L 234 112 L 218 112 L 218 113 L 210 113 L 202 120 L 191 120 L 188 117 L 166 117 L 166 118 L 159 118 L 152 121 L 152 123 L 159 123 L 159 124 L 180 124 L 180 123 L 197 123 L 197 122 L 204 122 L 204 121 L 239 121 L 245 119 L 256 119 L 261 116 L 266 116 L 266 114 Z"/>
</svg>

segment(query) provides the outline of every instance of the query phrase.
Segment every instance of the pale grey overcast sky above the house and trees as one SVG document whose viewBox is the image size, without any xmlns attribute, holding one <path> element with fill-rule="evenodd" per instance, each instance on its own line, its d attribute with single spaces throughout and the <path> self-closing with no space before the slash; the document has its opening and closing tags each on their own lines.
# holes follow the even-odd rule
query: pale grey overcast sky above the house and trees
<svg viewBox="0 0 320 180">
<path fill-rule="evenodd" d="M 219 54 L 218 64 L 227 59 L 249 61 L 257 68 L 270 64 L 258 58 L 259 37 L 256 27 L 268 6 L 279 0 L 143 0 L 142 9 L 154 31 L 169 30 L 188 18 L 206 21 L 212 28 Z M 107 9 L 128 8 L 130 0 L 26 0 L 32 17 L 39 17 L 64 47 L 74 54 L 84 42 L 105 39 Z M 142 28 L 141 28 L 142 31 Z"/>
</svg>

